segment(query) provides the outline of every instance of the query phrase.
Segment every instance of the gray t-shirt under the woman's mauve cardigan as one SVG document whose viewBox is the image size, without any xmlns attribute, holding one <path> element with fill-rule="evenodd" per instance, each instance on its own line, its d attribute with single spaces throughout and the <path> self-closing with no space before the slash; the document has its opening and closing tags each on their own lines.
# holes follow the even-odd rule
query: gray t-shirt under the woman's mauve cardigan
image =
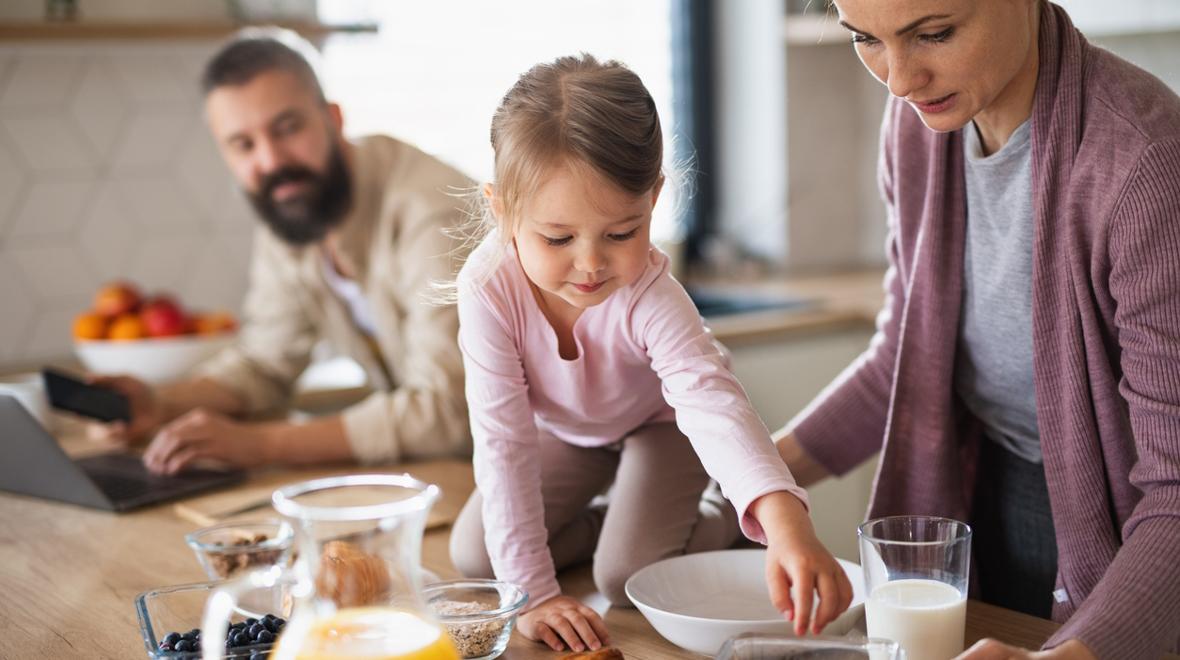
<svg viewBox="0 0 1180 660">
<path fill-rule="evenodd" d="M 1021 124 L 983 156 L 963 129 L 966 244 L 955 391 L 1009 451 L 1041 463 L 1032 385 L 1032 136 Z"/>
</svg>

